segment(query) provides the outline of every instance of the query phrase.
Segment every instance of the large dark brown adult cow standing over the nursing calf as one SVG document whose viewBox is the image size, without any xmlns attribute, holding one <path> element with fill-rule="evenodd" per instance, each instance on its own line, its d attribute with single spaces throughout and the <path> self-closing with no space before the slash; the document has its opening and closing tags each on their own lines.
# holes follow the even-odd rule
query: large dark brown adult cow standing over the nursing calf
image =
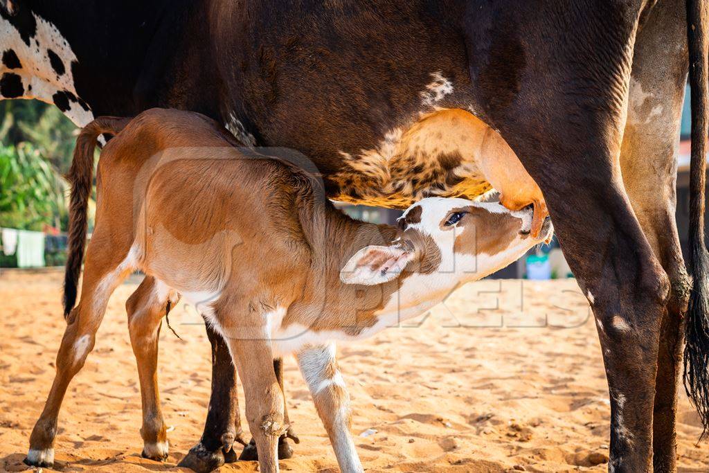
<svg viewBox="0 0 709 473">
<path fill-rule="evenodd" d="M 591 302 L 610 464 L 674 471 L 683 350 L 709 432 L 706 14 L 702 0 L 0 0 L 0 99 L 56 104 L 79 126 L 150 106 L 199 111 L 244 143 L 303 153 L 333 199 L 401 208 L 489 189 L 459 133 L 391 153 L 428 113 L 479 118 L 544 191 Z M 693 281 L 675 223 L 688 69 Z M 211 409 L 182 461 L 200 471 L 235 460 L 240 432 L 228 349 L 208 337 Z"/>
</svg>

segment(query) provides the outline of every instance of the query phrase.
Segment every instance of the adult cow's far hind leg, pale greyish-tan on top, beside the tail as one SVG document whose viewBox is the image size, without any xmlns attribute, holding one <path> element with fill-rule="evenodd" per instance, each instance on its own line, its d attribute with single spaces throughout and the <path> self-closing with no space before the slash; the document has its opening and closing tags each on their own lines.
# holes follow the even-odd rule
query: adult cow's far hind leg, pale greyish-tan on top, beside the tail
<svg viewBox="0 0 709 473">
<path fill-rule="evenodd" d="M 671 283 L 659 335 L 652 444 L 654 470 L 674 472 L 682 318 L 690 289 L 675 221 L 676 140 L 688 57 L 684 4 L 660 1 L 645 18 L 635 43 L 620 166 L 635 215 Z"/>
</svg>

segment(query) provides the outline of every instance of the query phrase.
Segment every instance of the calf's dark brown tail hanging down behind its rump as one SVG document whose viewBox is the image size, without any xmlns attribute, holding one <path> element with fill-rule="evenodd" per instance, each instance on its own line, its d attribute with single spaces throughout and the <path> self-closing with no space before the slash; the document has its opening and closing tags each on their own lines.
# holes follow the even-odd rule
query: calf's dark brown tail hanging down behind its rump
<svg viewBox="0 0 709 473">
<path fill-rule="evenodd" d="M 94 150 L 101 134 L 116 135 L 130 121 L 129 118 L 99 117 L 84 127 L 77 138 L 74 159 L 67 179 L 72 185 L 69 198 L 69 242 L 67 266 L 64 274 L 64 316 L 74 308 L 77 301 L 79 274 L 84 260 L 88 208 L 91 184 L 94 181 Z"/>
</svg>

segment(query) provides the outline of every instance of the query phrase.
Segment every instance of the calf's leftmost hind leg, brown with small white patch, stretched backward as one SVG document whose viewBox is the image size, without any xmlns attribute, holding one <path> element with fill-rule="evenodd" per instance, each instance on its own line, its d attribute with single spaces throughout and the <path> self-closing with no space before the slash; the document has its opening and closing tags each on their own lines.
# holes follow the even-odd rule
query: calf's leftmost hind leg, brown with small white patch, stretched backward
<svg viewBox="0 0 709 473">
<path fill-rule="evenodd" d="M 94 233 L 86 253 L 81 300 L 67 316 L 67 328 L 57 353 L 57 374 L 45 408 L 30 435 L 30 450 L 25 463 L 31 466 L 51 467 L 54 463 L 57 417 L 69 382 L 82 369 L 86 356 L 94 348 L 96 330 L 104 318 L 108 298 L 133 270 L 133 260 L 127 248 L 123 252 L 124 259 L 116 261 L 116 255 L 121 252 L 101 243 L 97 233 Z"/>
</svg>

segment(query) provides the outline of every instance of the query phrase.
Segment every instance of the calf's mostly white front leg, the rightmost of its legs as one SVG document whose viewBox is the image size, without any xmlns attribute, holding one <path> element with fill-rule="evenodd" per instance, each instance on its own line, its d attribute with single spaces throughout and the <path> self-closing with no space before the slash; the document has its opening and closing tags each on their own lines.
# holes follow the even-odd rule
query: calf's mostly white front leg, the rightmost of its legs
<svg viewBox="0 0 709 473">
<path fill-rule="evenodd" d="M 309 347 L 298 353 L 298 366 L 313 396 L 318 416 L 328 431 L 342 472 L 364 472 L 352 440 L 352 411 L 342 374 L 337 368 L 335 344 Z"/>
</svg>

